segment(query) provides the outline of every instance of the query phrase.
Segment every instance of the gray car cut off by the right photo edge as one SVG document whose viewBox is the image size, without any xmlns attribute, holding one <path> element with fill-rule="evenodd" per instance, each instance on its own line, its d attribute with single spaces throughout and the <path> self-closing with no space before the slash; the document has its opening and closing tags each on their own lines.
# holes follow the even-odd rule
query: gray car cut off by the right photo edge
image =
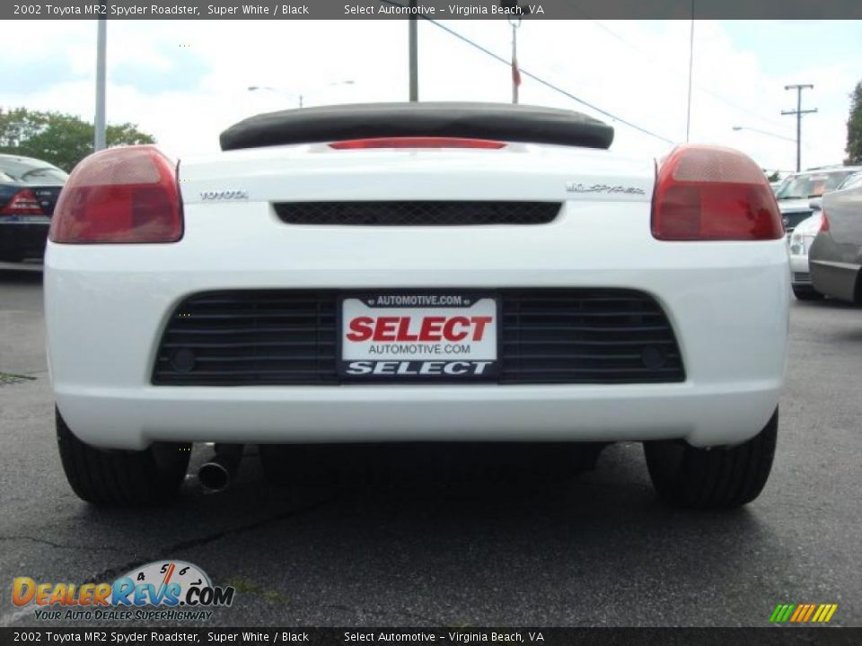
<svg viewBox="0 0 862 646">
<path fill-rule="evenodd" d="M 862 179 L 823 196 L 822 226 L 808 252 L 814 289 L 862 302 Z"/>
</svg>

